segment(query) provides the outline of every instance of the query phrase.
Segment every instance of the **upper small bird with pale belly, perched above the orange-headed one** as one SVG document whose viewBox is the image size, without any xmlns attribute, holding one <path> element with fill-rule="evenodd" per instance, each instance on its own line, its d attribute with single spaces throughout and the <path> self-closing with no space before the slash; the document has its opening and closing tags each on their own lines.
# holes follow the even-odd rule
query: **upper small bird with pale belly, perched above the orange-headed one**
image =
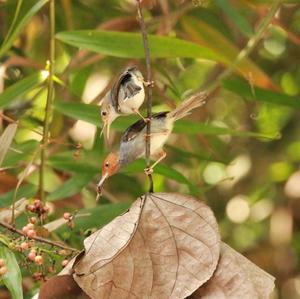
<svg viewBox="0 0 300 299">
<path fill-rule="evenodd" d="M 148 121 L 141 115 L 139 108 L 145 99 L 144 86 L 151 84 L 153 82 L 146 82 L 136 67 L 129 67 L 121 73 L 112 89 L 100 101 L 103 122 L 101 135 L 104 133 L 106 140 L 109 139 L 111 123 L 119 116 L 136 113 L 144 122 Z"/>
</svg>

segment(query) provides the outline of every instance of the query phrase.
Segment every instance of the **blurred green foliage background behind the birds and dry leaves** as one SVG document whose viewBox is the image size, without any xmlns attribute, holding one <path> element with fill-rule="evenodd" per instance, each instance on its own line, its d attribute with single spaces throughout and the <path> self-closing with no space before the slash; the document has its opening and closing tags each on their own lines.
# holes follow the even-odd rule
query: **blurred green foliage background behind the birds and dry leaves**
<svg viewBox="0 0 300 299">
<path fill-rule="evenodd" d="M 56 32 L 64 33 L 56 40 L 51 142 L 46 150 L 47 221 L 65 211 L 82 214 L 73 230 L 63 225 L 51 234 L 81 248 L 89 230 L 125 211 L 147 190 L 141 160 L 112 177 L 101 202 L 95 202 L 101 161 L 108 153 L 99 138 L 97 104 L 126 66 L 145 68 L 134 1 L 55 2 Z M 144 1 L 149 33 L 193 43 L 174 46 L 153 39 L 153 110 L 172 109 L 198 89 L 217 87 L 204 108 L 175 127 L 154 182 L 155 191 L 191 193 L 205 200 L 223 240 L 276 277 L 274 298 L 293 299 L 300 298 L 299 2 L 283 1 L 250 55 L 230 76 L 220 77 L 255 38 L 275 2 Z M 43 74 L 49 59 L 49 3 L 0 1 L 0 24 L 0 109 L 19 121 L 0 172 L 0 207 L 7 208 L 27 165 L 30 172 L 17 199 L 39 196 L 37 151 L 47 97 Z M 83 29 L 100 33 L 74 31 Z M 85 49 L 91 47 L 94 51 Z M 114 147 L 134 119 L 116 121 Z M 8 122 L 0 121 L 3 131 Z M 17 226 L 26 219 L 20 216 Z M 30 272 L 22 269 L 22 275 L 25 298 L 30 298 L 38 284 Z M 1 288 L 0 298 L 6 296 Z"/>
</svg>

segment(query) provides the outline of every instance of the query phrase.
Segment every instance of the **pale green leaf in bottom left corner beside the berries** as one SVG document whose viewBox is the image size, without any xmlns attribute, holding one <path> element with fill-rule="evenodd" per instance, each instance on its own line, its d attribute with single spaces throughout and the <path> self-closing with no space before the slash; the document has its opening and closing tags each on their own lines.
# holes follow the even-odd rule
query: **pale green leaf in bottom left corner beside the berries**
<svg viewBox="0 0 300 299">
<path fill-rule="evenodd" d="M 23 299 L 22 275 L 15 255 L 6 246 L 0 245 L 0 258 L 4 259 L 8 270 L 0 281 L 8 288 L 12 299 Z"/>
</svg>

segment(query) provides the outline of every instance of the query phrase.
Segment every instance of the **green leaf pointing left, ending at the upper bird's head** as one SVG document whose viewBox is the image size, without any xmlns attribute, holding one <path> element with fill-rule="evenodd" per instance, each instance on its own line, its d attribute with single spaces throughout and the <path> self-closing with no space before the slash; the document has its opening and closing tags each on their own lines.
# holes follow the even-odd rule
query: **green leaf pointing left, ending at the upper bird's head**
<svg viewBox="0 0 300 299">
<path fill-rule="evenodd" d="M 101 127 L 100 107 L 97 105 L 56 101 L 54 108 L 64 115 Z"/>
</svg>

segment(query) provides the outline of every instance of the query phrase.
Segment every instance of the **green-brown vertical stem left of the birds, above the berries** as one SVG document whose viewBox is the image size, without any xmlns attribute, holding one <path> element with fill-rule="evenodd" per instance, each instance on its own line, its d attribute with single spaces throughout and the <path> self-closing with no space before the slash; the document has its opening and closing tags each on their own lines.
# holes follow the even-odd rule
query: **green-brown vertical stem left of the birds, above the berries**
<svg viewBox="0 0 300 299">
<path fill-rule="evenodd" d="M 50 19 L 50 52 L 49 52 L 49 77 L 48 77 L 48 93 L 44 119 L 43 138 L 41 141 L 41 164 L 39 176 L 40 199 L 44 201 L 44 168 L 45 168 L 45 151 L 49 142 L 49 126 L 50 114 L 53 101 L 54 84 L 54 59 L 55 59 L 55 0 L 49 2 L 49 19 Z"/>
</svg>

